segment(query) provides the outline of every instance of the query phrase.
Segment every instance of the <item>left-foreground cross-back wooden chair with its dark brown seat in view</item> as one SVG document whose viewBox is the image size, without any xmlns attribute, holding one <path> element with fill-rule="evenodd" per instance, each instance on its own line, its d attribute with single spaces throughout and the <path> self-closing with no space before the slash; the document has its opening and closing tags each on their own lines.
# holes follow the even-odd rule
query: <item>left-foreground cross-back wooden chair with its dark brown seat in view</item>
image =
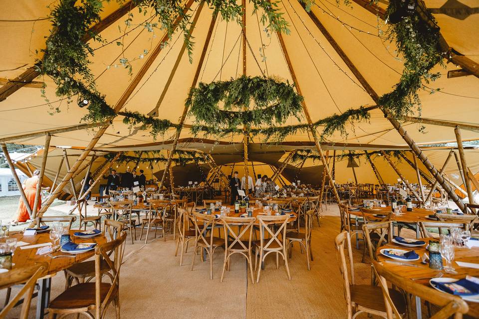
<svg viewBox="0 0 479 319">
<path fill-rule="evenodd" d="M 95 247 L 95 282 L 74 285 L 50 302 L 48 312 L 52 319 L 58 315 L 83 314 L 88 318 L 102 319 L 110 303 L 116 309 L 116 318 L 120 319 L 120 268 L 123 257 L 123 245 L 126 231 L 117 239 Z M 110 253 L 113 251 L 113 253 Z M 113 256 L 113 259 L 111 258 Z M 102 282 L 101 264 L 107 263 L 111 270 L 112 282 Z M 94 311 L 94 314 L 91 314 Z"/>
</svg>

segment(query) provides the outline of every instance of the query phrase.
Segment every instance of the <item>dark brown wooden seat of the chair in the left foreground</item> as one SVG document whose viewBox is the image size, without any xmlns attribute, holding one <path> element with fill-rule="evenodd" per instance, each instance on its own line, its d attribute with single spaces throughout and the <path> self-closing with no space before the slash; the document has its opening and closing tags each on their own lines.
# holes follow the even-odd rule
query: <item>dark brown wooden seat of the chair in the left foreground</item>
<svg viewBox="0 0 479 319">
<path fill-rule="evenodd" d="M 105 300 L 111 284 L 101 283 L 100 300 Z M 116 292 L 114 292 L 113 296 Z M 95 305 L 95 283 L 84 283 L 68 288 L 50 302 L 49 309 L 81 309 Z"/>
</svg>

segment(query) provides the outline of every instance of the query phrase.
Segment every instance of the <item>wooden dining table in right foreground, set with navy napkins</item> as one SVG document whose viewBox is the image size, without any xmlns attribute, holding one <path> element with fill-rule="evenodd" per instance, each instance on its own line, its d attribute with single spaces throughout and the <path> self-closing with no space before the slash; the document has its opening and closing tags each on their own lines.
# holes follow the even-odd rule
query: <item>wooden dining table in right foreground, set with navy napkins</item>
<svg viewBox="0 0 479 319">
<path fill-rule="evenodd" d="M 425 239 L 422 239 L 422 240 L 424 240 L 426 242 L 426 244 L 428 244 L 429 240 L 431 240 L 431 239 L 433 239 L 433 238 L 425 238 Z M 438 239 L 436 238 L 435 240 L 438 240 Z M 417 280 L 414 280 L 416 283 L 420 283 L 420 284 L 423 284 L 423 285 L 428 286 L 428 287 L 431 287 L 430 284 L 429 284 L 429 280 L 431 278 L 438 277 L 438 274 L 441 273 L 441 272 L 444 274 L 443 278 L 463 279 L 467 275 L 474 276 L 474 277 L 479 277 L 479 269 L 461 267 L 458 264 L 456 264 L 456 261 L 478 264 L 479 263 L 479 247 L 473 247 L 471 249 L 469 249 L 469 248 L 458 248 L 458 247 L 455 248 L 455 258 L 454 258 L 454 261 L 452 262 L 452 267 L 456 269 L 456 271 L 458 272 L 457 274 L 448 274 L 444 270 L 431 269 L 431 268 L 429 268 L 428 264 L 421 263 L 421 258 L 419 260 L 416 260 L 416 261 L 407 261 L 407 260 L 395 261 L 395 260 L 381 254 L 381 249 L 383 249 L 383 248 L 386 248 L 386 249 L 397 248 L 397 249 L 404 249 L 404 250 L 412 250 L 413 248 L 405 247 L 405 246 L 395 244 L 395 243 L 387 244 L 387 245 L 379 247 L 376 250 L 376 256 L 377 256 L 378 261 L 382 262 L 382 265 L 386 269 L 388 269 L 388 270 L 390 270 L 390 271 L 392 271 L 392 272 L 394 272 L 394 273 L 398 274 L 399 276 L 404 277 L 406 279 L 417 279 Z M 429 252 L 426 250 L 426 245 L 414 248 L 414 251 L 420 257 L 422 257 L 425 253 L 429 254 Z M 399 264 L 390 263 L 390 262 L 386 262 L 386 261 L 400 262 L 402 264 L 408 264 L 408 265 L 411 265 L 411 266 L 399 265 Z M 443 259 L 443 263 L 444 263 L 444 265 L 446 265 L 446 261 L 444 259 Z M 419 278 L 423 278 L 423 279 L 419 279 Z M 474 318 L 479 318 L 479 303 L 468 302 L 468 301 L 467 301 L 467 303 L 468 303 L 468 306 L 469 306 L 468 315 L 470 315 L 471 317 L 474 317 Z M 416 315 L 417 315 L 417 318 L 420 319 L 421 318 L 421 303 L 420 303 L 419 298 L 416 299 L 416 305 L 417 305 L 416 306 Z M 419 307 L 418 307 L 418 305 L 419 305 Z"/>
</svg>

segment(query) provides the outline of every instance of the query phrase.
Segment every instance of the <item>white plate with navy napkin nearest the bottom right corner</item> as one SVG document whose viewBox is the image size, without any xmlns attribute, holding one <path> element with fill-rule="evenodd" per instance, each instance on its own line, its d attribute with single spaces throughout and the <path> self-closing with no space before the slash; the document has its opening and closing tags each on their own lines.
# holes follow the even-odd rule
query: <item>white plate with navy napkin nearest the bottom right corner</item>
<svg viewBox="0 0 479 319">
<path fill-rule="evenodd" d="M 429 281 L 429 284 L 444 293 L 456 295 L 464 300 L 479 303 L 479 284 L 477 280 L 473 281 L 472 278 L 433 278 Z"/>
</svg>

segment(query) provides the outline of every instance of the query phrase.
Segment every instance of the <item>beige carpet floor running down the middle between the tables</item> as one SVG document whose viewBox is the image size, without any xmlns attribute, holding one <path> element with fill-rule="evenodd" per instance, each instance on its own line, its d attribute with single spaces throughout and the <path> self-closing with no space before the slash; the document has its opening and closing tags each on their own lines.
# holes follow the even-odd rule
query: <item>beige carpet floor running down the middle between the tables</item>
<svg viewBox="0 0 479 319">
<path fill-rule="evenodd" d="M 201 263 L 197 258 L 194 270 L 190 271 L 191 249 L 184 265 L 179 266 L 171 235 L 167 235 L 166 242 L 159 238 L 148 245 L 140 241 L 131 245 L 127 238 L 120 283 L 122 318 L 345 318 L 346 303 L 334 250 L 334 237 L 339 230 L 337 206 L 328 206 L 324 215 L 321 227 L 314 223 L 311 270 L 307 270 L 306 257 L 295 246 L 289 259 L 291 281 L 281 262 L 276 270 L 275 258 L 271 256 L 261 271 L 259 283 L 253 285 L 244 259 L 236 256 L 221 283 L 221 248 L 215 254 L 214 279 L 210 280 L 209 262 Z M 357 280 L 368 283 L 370 268 L 360 263 L 362 249 L 354 252 Z M 61 293 L 63 274 L 52 279 L 52 287 L 53 297 Z M 34 311 L 32 305 L 30 318 L 34 318 Z M 10 315 L 8 318 L 15 318 L 18 313 Z M 110 311 L 107 318 L 114 317 Z"/>
</svg>

